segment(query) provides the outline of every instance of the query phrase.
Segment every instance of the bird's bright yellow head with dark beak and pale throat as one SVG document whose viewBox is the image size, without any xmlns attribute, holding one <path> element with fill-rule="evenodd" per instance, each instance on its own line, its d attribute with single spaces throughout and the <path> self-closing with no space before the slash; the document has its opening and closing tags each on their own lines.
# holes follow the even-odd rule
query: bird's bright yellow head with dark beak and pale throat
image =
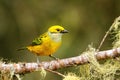
<svg viewBox="0 0 120 80">
<path fill-rule="evenodd" d="M 54 41 L 60 41 L 62 34 L 64 34 L 64 33 L 68 33 L 68 31 L 59 25 L 51 26 L 48 29 L 48 34 Z"/>
</svg>

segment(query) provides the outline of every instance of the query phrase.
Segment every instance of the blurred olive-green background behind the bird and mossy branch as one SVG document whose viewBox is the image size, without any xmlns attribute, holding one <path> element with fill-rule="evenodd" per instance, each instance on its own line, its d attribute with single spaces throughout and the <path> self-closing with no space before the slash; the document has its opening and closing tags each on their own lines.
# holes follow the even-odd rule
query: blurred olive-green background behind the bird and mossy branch
<svg viewBox="0 0 120 80">
<path fill-rule="evenodd" d="M 105 32 L 120 15 L 120 0 L 0 0 L 0 57 L 13 62 L 35 62 L 28 51 L 16 51 L 51 25 L 64 26 L 69 34 L 63 36 L 61 48 L 54 54 L 59 58 L 80 55 L 91 43 L 98 47 Z M 110 49 L 107 38 L 101 50 Z M 41 61 L 51 60 L 40 57 Z M 74 68 L 75 69 L 75 68 Z M 71 69 L 61 69 L 67 73 Z M 37 73 L 24 80 L 39 80 Z M 45 80 L 61 80 L 48 73 Z"/>
</svg>

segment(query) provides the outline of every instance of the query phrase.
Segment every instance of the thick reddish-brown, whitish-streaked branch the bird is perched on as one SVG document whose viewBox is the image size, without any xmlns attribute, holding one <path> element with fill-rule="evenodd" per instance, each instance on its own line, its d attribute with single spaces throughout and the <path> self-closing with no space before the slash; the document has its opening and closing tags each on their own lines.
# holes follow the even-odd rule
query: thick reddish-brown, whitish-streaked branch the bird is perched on
<svg viewBox="0 0 120 80">
<path fill-rule="evenodd" d="M 95 52 L 95 57 L 97 60 L 103 60 L 107 58 L 114 58 L 120 56 L 120 48 Z M 33 63 L 0 63 L 0 71 L 11 72 L 14 71 L 15 74 L 24 74 L 29 72 L 34 72 L 43 67 L 45 70 L 56 70 L 64 67 L 70 67 L 75 65 L 82 65 L 89 62 L 89 57 L 87 54 L 82 54 L 80 56 L 53 60 L 49 62 L 37 62 Z"/>
</svg>

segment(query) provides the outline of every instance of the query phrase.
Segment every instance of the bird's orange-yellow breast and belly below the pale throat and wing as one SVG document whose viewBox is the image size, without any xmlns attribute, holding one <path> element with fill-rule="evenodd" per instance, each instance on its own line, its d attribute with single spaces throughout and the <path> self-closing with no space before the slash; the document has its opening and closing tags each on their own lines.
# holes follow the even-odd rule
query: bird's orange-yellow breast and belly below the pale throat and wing
<svg viewBox="0 0 120 80">
<path fill-rule="evenodd" d="M 55 53 L 60 45 L 61 41 L 55 42 L 52 40 L 46 40 L 41 45 L 28 46 L 27 48 L 38 56 L 48 56 Z"/>
</svg>

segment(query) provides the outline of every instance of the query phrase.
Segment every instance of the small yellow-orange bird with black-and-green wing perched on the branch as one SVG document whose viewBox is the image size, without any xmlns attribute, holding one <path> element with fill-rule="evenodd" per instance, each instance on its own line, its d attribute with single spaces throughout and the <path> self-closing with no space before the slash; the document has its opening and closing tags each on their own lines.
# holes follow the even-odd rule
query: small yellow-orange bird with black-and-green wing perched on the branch
<svg viewBox="0 0 120 80">
<path fill-rule="evenodd" d="M 49 56 L 58 59 L 53 54 L 61 46 L 62 36 L 65 33 L 68 33 L 68 30 L 60 25 L 53 25 L 48 28 L 47 32 L 35 38 L 30 45 L 18 50 L 27 49 L 37 56 Z M 37 62 L 39 62 L 38 59 Z"/>
</svg>

